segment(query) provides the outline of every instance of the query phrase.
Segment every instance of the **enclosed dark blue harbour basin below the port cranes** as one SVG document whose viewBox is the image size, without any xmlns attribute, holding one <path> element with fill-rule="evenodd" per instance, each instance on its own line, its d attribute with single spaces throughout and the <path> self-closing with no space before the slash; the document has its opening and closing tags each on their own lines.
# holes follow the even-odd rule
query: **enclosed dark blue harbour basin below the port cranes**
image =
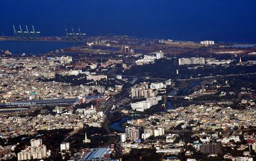
<svg viewBox="0 0 256 161">
<path fill-rule="evenodd" d="M 41 54 L 66 47 L 83 45 L 83 42 L 45 42 L 45 41 L 0 41 L 1 50 L 9 50 L 12 54 Z"/>
</svg>

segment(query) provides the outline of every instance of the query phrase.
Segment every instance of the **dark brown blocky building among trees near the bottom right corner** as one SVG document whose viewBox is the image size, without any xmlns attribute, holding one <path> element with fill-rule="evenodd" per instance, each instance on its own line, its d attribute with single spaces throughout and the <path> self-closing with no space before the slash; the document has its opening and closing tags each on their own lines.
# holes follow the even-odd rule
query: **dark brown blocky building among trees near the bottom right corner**
<svg viewBox="0 0 256 161">
<path fill-rule="evenodd" d="M 221 143 L 205 143 L 200 145 L 200 152 L 204 154 L 221 154 Z"/>
</svg>

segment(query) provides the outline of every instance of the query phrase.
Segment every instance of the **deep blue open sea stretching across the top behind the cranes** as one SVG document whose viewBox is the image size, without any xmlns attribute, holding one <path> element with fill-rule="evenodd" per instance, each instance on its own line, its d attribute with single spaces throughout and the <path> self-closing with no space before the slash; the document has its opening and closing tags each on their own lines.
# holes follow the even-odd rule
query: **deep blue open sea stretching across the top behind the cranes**
<svg viewBox="0 0 256 161">
<path fill-rule="evenodd" d="M 35 25 L 44 36 L 64 35 L 66 26 L 90 36 L 256 41 L 255 0 L 1 0 L 0 6 L 4 35 L 13 35 L 12 25 Z"/>
</svg>

